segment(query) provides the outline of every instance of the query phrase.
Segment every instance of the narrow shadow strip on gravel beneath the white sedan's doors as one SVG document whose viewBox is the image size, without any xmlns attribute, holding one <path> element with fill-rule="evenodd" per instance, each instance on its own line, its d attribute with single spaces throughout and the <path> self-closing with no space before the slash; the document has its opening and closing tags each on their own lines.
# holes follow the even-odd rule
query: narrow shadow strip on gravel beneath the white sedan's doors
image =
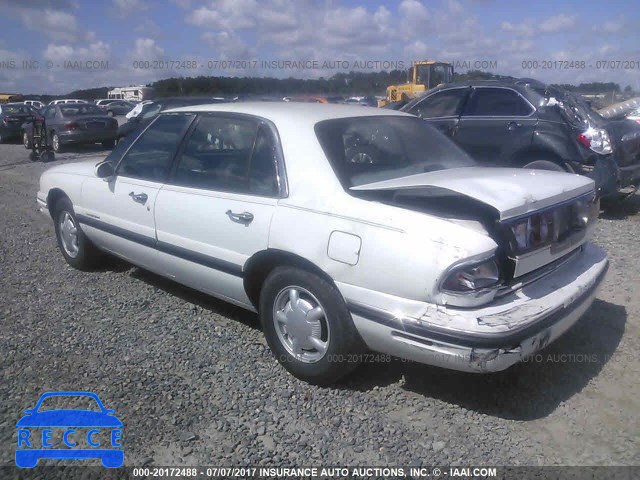
<svg viewBox="0 0 640 480">
<path fill-rule="evenodd" d="M 255 328 L 257 330 L 262 329 L 258 316 L 255 313 L 245 310 L 244 308 L 238 307 L 223 300 L 218 300 L 217 298 L 211 297 L 205 293 L 201 293 L 197 290 L 185 287 L 184 285 L 176 283 L 173 280 L 169 280 L 141 268 L 134 268 L 130 275 L 133 278 L 142 280 L 143 282 L 155 288 L 164 290 L 170 295 L 181 298 L 186 302 L 192 303 L 194 309 L 200 307 L 204 310 L 210 311 L 211 313 L 226 317 L 229 320 L 243 323 L 248 327 Z"/>
</svg>

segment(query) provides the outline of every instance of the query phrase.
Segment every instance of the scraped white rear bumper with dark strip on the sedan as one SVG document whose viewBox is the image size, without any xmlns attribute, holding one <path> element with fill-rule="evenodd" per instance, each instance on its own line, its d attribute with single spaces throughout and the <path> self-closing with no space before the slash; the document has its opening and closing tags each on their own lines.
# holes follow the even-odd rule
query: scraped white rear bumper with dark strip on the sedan
<svg viewBox="0 0 640 480">
<path fill-rule="evenodd" d="M 347 285 L 338 288 L 372 350 L 453 370 L 495 372 L 573 326 L 595 299 L 607 269 L 606 253 L 587 244 L 561 268 L 474 309 L 407 301 Z"/>
</svg>

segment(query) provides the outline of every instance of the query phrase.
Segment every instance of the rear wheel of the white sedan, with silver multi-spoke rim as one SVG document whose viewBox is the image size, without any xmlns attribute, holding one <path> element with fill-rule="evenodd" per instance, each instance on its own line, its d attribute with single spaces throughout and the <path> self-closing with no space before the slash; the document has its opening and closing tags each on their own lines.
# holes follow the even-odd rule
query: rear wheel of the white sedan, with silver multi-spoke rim
<svg viewBox="0 0 640 480">
<path fill-rule="evenodd" d="M 260 321 L 267 343 L 293 376 L 328 385 L 360 364 L 365 350 L 337 288 L 294 267 L 278 267 L 260 292 Z"/>
</svg>

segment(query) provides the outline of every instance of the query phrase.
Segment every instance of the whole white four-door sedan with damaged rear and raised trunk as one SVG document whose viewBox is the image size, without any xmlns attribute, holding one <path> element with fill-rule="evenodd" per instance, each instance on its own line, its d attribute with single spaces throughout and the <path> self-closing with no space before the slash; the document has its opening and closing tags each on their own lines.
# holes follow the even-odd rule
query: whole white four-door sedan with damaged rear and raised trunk
<svg viewBox="0 0 640 480">
<path fill-rule="evenodd" d="M 163 112 L 101 163 L 47 170 L 37 200 L 70 265 L 106 252 L 258 312 L 316 384 L 371 350 L 503 370 L 576 323 L 608 266 L 590 179 L 476 167 L 382 109 Z"/>
</svg>

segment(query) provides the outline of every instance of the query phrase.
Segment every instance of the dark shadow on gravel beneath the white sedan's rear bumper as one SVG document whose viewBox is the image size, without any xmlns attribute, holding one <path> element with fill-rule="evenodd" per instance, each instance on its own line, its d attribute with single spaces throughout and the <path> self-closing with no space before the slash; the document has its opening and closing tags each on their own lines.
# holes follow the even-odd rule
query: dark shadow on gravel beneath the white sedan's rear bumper
<svg viewBox="0 0 640 480">
<path fill-rule="evenodd" d="M 596 300 L 565 335 L 504 372 L 480 375 L 394 360 L 365 364 L 338 388 L 367 391 L 404 377 L 405 390 L 425 397 L 500 418 L 535 420 L 600 373 L 614 355 L 626 321 L 624 307 Z"/>
</svg>

